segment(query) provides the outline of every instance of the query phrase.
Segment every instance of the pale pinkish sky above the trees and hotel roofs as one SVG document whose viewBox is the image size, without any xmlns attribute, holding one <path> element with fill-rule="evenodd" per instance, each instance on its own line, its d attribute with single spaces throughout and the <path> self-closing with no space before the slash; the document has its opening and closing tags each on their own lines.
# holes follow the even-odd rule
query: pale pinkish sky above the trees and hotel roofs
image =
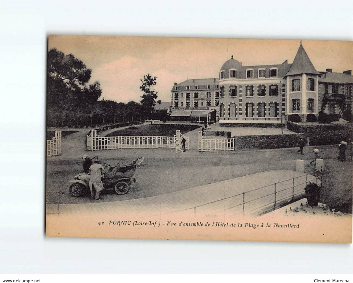
<svg viewBox="0 0 353 283">
<path fill-rule="evenodd" d="M 317 71 L 352 70 L 352 41 L 303 40 Z M 300 40 L 234 38 L 127 37 L 50 35 L 48 48 L 72 53 L 92 69 L 89 83 L 101 84 L 101 99 L 140 101 L 140 79 L 157 77 L 158 99 L 170 101 L 174 82 L 218 78 L 222 64 L 231 58 L 247 65 L 292 63 Z"/>
</svg>

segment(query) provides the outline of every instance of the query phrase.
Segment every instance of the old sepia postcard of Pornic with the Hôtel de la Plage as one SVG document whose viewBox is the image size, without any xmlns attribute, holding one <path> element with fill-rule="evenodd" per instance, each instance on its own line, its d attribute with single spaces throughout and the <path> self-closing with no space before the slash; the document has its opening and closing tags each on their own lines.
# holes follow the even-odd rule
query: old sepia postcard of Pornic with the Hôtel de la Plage
<svg viewBox="0 0 353 283">
<path fill-rule="evenodd" d="M 352 49 L 49 35 L 46 235 L 351 243 Z"/>
</svg>

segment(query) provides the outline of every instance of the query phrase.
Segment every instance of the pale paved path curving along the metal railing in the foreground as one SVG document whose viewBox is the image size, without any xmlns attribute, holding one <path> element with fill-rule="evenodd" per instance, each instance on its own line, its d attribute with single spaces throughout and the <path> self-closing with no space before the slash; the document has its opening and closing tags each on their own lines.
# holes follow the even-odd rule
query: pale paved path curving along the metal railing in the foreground
<svg viewBox="0 0 353 283">
<path fill-rule="evenodd" d="M 271 184 L 274 182 L 277 183 L 277 200 L 291 199 L 292 178 L 296 178 L 294 179 L 294 194 L 303 192 L 306 182 L 305 173 L 293 170 L 271 170 L 149 198 L 105 203 L 49 204 L 47 213 L 58 214 L 59 212 L 59 215 L 79 213 L 88 216 L 97 212 L 119 215 L 119 213 L 128 211 L 135 215 L 151 216 L 179 211 L 200 213 L 200 215 L 227 211 L 227 213 L 237 215 L 243 213 L 243 192 L 245 192 L 245 202 L 247 202 L 245 204 L 246 213 L 272 203 L 274 186 Z M 308 176 L 308 181 L 315 179 L 312 175 Z"/>
</svg>

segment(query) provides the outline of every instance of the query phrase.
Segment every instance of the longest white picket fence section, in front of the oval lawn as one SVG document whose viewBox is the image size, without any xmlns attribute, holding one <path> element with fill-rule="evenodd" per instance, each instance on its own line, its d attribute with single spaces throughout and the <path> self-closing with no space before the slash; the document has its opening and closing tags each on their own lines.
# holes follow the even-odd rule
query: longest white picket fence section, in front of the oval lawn
<svg viewBox="0 0 353 283">
<path fill-rule="evenodd" d="M 139 137 L 100 137 L 96 130 L 92 130 L 87 136 L 87 150 L 104 149 L 142 149 L 142 148 L 175 148 L 177 142 L 185 138 L 185 148 L 189 149 L 189 137 L 184 136 L 177 130 L 174 137 L 164 136 L 139 136 Z"/>
</svg>

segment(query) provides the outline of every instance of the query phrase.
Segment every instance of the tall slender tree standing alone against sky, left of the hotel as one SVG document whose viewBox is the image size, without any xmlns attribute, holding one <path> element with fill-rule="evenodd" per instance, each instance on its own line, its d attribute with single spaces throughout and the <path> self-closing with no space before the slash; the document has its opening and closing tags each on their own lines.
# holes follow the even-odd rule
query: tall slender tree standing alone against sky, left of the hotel
<svg viewBox="0 0 353 283">
<path fill-rule="evenodd" d="M 149 117 L 151 113 L 154 112 L 154 107 L 156 106 L 157 91 L 153 88 L 151 89 L 151 86 L 156 85 L 156 79 L 157 77 L 152 77 L 150 74 L 147 74 L 146 76 L 143 76 L 143 79 L 140 79 L 142 82 L 140 90 L 143 92 L 140 103 L 143 114 L 147 117 L 147 120 L 149 120 Z"/>
</svg>

